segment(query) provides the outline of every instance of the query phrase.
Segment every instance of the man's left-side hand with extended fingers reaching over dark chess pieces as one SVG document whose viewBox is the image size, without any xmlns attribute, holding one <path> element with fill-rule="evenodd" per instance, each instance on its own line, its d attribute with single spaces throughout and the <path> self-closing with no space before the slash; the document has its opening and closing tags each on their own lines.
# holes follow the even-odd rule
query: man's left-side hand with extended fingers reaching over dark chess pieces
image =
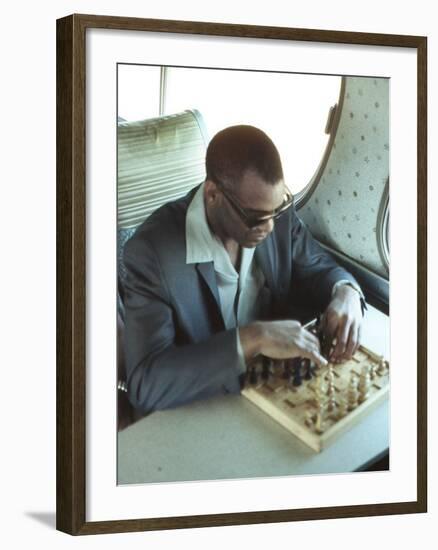
<svg viewBox="0 0 438 550">
<path fill-rule="evenodd" d="M 258 354 L 272 359 L 307 357 L 320 366 L 327 365 L 318 338 L 298 321 L 258 321 L 239 329 L 246 361 Z"/>
</svg>

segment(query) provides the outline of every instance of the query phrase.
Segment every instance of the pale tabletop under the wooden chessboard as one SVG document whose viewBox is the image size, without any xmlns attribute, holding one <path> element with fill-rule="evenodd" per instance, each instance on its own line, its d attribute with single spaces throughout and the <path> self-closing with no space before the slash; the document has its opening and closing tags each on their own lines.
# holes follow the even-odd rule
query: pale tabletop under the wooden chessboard
<svg viewBox="0 0 438 550">
<path fill-rule="evenodd" d="M 364 345 L 389 359 L 389 319 L 369 306 Z M 386 400 L 315 453 L 242 396 L 157 411 L 118 434 L 118 483 L 352 472 L 389 448 Z"/>
</svg>

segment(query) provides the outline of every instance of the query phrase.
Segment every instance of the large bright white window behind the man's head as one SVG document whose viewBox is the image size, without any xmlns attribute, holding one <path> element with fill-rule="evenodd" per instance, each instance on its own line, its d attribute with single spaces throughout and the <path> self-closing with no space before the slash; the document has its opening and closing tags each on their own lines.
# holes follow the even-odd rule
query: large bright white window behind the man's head
<svg viewBox="0 0 438 550">
<path fill-rule="evenodd" d="M 210 137 L 234 124 L 257 126 L 278 147 L 296 194 L 327 147 L 327 114 L 340 86 L 339 76 L 119 65 L 119 116 L 140 120 L 197 109 Z"/>
</svg>

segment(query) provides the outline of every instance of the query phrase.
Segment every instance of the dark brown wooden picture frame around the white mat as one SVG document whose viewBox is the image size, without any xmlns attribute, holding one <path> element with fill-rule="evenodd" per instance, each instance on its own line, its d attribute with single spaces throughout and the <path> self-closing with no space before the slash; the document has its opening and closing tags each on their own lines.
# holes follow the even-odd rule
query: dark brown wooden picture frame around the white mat
<svg viewBox="0 0 438 550">
<path fill-rule="evenodd" d="M 417 52 L 417 500 L 86 521 L 87 29 L 412 48 Z M 57 529 L 73 535 L 419 513 L 427 510 L 427 39 L 420 36 L 71 15 L 57 21 Z"/>
</svg>

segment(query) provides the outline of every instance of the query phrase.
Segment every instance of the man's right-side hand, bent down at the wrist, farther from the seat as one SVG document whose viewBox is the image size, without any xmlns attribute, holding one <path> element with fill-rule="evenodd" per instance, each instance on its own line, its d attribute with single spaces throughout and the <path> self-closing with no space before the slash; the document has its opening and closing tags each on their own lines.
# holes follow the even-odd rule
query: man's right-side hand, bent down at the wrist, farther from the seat
<svg viewBox="0 0 438 550">
<path fill-rule="evenodd" d="M 348 361 L 360 343 L 362 308 L 359 293 L 349 285 L 336 289 L 322 317 L 325 338 L 333 343 L 329 354 L 331 363 Z"/>
</svg>

